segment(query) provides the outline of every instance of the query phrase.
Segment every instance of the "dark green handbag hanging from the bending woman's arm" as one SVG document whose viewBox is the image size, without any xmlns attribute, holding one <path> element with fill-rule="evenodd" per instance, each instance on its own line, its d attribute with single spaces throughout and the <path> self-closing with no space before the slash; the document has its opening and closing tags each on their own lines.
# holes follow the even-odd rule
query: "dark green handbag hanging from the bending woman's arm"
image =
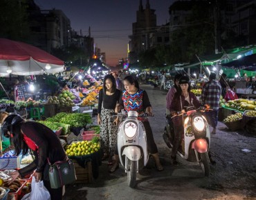
<svg viewBox="0 0 256 200">
<path fill-rule="evenodd" d="M 51 188 L 57 189 L 67 184 L 73 183 L 76 180 L 75 166 L 71 159 L 66 158 L 64 161 L 56 161 L 49 168 L 49 179 Z"/>
</svg>

